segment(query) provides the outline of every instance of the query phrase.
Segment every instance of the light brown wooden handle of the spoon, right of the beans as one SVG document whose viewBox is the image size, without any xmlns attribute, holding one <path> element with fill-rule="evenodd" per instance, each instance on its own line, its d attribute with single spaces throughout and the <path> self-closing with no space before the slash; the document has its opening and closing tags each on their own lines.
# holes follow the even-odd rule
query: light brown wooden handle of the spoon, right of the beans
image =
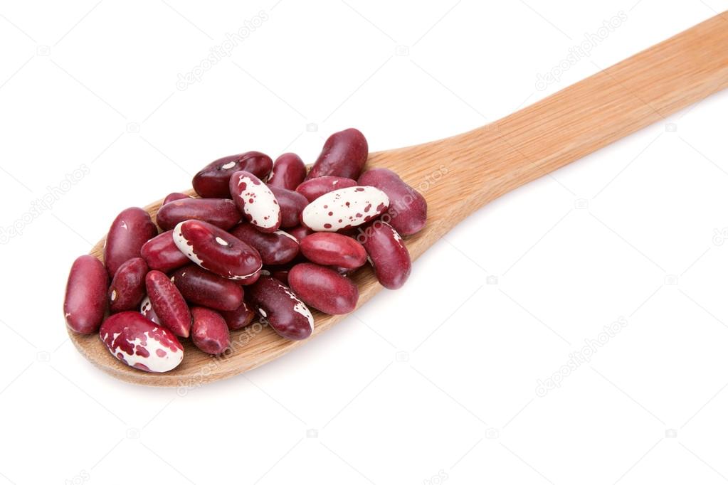
<svg viewBox="0 0 728 485">
<path fill-rule="evenodd" d="M 471 132 L 375 156 L 431 184 L 442 236 L 484 204 L 728 87 L 728 13 Z M 665 121 L 666 123 L 666 121 Z M 440 214 L 441 212 L 441 214 Z M 438 217 L 441 215 L 443 217 Z M 437 236 L 437 235 L 432 235 Z"/>
</svg>

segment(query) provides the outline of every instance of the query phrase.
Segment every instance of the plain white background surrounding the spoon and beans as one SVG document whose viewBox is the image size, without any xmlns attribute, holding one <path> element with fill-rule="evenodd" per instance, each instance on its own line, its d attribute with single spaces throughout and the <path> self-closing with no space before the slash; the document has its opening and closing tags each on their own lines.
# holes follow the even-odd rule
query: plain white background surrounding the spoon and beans
<svg viewBox="0 0 728 485">
<path fill-rule="evenodd" d="M 310 162 L 352 126 L 372 151 L 454 135 L 725 9 L 1 2 L 0 483 L 728 481 L 728 93 L 495 201 L 401 291 L 186 396 L 92 367 L 61 312 L 71 262 L 116 213 L 189 188 L 208 161 L 260 150 Z M 537 89 L 620 11 L 590 57 Z M 256 16 L 229 57 L 178 89 Z"/>
</svg>

